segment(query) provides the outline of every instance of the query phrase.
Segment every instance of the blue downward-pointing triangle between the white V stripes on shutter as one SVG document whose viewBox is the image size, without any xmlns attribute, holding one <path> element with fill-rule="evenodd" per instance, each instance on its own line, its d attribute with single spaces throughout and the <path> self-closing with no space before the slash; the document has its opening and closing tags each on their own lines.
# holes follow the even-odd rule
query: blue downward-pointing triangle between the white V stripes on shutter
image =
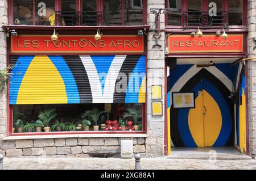
<svg viewBox="0 0 256 181">
<path fill-rule="evenodd" d="M 106 81 L 106 75 L 108 74 L 110 65 L 115 56 L 90 56 L 97 69 L 98 76 L 101 82 L 101 92 L 104 92 L 104 86 Z"/>
</svg>

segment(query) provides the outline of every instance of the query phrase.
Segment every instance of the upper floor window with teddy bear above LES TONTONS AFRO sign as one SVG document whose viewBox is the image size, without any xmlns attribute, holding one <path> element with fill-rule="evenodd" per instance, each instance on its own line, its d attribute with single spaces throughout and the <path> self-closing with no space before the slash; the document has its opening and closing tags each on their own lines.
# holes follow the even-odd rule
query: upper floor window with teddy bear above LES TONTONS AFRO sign
<svg viewBox="0 0 256 181">
<path fill-rule="evenodd" d="M 144 0 L 13 0 L 10 23 L 38 26 L 142 25 Z M 13 21 L 13 22 L 12 22 Z"/>
</svg>

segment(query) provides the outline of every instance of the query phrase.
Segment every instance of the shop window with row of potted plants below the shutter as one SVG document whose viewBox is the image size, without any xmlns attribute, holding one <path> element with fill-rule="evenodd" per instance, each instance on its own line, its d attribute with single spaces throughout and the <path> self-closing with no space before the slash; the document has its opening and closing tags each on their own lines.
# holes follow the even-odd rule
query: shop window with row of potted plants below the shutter
<svg viewBox="0 0 256 181">
<path fill-rule="evenodd" d="M 13 131 L 14 133 L 142 131 L 142 105 L 140 103 L 14 105 Z"/>
</svg>

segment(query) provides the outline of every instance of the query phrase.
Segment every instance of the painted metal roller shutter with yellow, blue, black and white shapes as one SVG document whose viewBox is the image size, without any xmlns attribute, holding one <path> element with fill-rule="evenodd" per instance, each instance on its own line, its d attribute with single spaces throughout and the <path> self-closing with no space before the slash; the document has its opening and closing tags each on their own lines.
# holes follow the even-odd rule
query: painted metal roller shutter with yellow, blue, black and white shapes
<svg viewBox="0 0 256 181">
<path fill-rule="evenodd" d="M 11 56 L 10 63 L 10 104 L 146 101 L 144 55 Z"/>
</svg>

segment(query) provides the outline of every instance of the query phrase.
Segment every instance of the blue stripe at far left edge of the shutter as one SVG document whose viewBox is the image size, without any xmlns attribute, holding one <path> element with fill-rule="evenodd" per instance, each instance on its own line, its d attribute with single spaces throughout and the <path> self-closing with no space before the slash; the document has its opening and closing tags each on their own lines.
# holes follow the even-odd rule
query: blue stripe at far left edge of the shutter
<svg viewBox="0 0 256 181">
<path fill-rule="evenodd" d="M 11 73 L 13 73 L 13 75 L 10 77 L 9 104 L 16 104 L 22 79 L 34 57 L 35 56 L 19 56 L 13 70 L 11 70 Z"/>
</svg>

